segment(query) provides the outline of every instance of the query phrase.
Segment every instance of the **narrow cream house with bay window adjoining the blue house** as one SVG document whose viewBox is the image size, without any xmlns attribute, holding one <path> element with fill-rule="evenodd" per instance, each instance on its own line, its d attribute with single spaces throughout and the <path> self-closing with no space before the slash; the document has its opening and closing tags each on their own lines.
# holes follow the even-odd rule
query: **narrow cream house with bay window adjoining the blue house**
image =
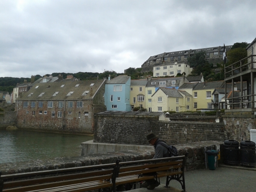
<svg viewBox="0 0 256 192">
<path fill-rule="evenodd" d="M 147 80 L 131 80 L 130 87 L 130 105 L 131 109 L 135 107 L 146 108 L 145 95 Z"/>
</svg>

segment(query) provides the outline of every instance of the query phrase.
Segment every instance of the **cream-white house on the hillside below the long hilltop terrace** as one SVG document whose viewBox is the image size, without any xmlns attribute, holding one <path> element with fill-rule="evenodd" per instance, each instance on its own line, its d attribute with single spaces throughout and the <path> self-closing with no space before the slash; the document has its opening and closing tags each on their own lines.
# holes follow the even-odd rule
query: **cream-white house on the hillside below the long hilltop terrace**
<svg viewBox="0 0 256 192">
<path fill-rule="evenodd" d="M 185 76 L 188 76 L 192 71 L 192 68 L 188 64 L 185 63 L 170 63 L 170 64 L 162 64 L 155 66 L 153 68 L 153 76 L 161 77 L 161 76 L 177 76 L 177 73 L 186 73 Z"/>
</svg>

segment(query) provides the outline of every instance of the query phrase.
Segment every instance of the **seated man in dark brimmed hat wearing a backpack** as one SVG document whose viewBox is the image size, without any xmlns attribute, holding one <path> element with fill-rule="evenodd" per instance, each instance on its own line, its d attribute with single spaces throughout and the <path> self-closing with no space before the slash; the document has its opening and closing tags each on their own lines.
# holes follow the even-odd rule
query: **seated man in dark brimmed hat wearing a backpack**
<svg viewBox="0 0 256 192">
<path fill-rule="evenodd" d="M 155 154 L 153 159 L 169 157 L 168 146 L 166 145 L 166 143 L 160 141 L 158 136 L 156 136 L 154 133 L 151 132 L 146 137 L 147 137 L 148 143 L 150 143 L 151 145 L 154 145 L 154 148 L 155 148 Z M 163 143 L 163 145 L 166 145 L 166 147 L 163 145 L 157 145 L 158 142 Z M 149 190 L 153 190 L 157 186 L 159 186 L 159 183 L 157 180 L 154 180 L 154 179 L 146 180 L 140 185 L 140 187 L 145 187 Z"/>
</svg>

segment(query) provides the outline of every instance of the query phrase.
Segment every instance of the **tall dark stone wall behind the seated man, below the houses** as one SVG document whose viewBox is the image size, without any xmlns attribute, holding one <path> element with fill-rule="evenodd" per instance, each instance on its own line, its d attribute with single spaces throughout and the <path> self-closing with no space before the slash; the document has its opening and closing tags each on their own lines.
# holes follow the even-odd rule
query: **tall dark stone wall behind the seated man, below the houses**
<svg viewBox="0 0 256 192">
<path fill-rule="evenodd" d="M 158 117 L 96 114 L 93 141 L 146 145 L 145 136 L 151 131 L 169 144 L 224 139 L 222 123 L 159 121 Z"/>
</svg>

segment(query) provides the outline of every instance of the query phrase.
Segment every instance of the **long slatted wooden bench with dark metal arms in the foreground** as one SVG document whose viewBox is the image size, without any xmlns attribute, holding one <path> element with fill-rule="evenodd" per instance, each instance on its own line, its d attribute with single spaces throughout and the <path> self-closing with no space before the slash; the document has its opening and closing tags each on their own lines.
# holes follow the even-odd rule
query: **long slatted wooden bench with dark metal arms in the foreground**
<svg viewBox="0 0 256 192">
<path fill-rule="evenodd" d="M 0 192 L 84 192 L 94 189 L 116 191 L 117 185 L 166 177 L 185 189 L 185 156 L 83 166 L 0 176 Z"/>
</svg>

